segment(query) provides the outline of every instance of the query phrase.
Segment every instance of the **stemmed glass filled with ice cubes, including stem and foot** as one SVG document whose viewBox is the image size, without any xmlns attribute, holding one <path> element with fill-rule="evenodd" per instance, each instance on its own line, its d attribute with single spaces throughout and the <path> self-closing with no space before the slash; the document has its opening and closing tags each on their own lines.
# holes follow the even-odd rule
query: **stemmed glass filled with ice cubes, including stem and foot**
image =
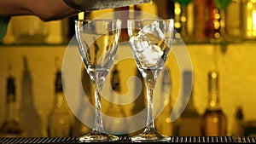
<svg viewBox="0 0 256 144">
<path fill-rule="evenodd" d="M 154 87 L 165 66 L 171 49 L 174 21 L 170 20 L 127 20 L 131 49 L 137 67 L 147 86 L 148 118 L 146 128 L 131 141 L 169 141 L 171 137 L 160 135 L 154 128 Z M 160 95 L 158 95 L 160 96 Z"/>
</svg>

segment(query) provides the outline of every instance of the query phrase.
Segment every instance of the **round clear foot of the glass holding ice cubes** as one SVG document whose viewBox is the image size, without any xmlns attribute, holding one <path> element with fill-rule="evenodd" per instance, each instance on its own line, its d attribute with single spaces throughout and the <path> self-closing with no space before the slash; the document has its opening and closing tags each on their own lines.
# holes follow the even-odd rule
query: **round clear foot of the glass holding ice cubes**
<svg viewBox="0 0 256 144">
<path fill-rule="evenodd" d="M 142 134 L 131 137 L 131 141 L 134 142 L 150 142 L 150 141 L 170 141 L 171 137 L 166 135 L 160 135 L 156 131 L 144 131 Z"/>
</svg>

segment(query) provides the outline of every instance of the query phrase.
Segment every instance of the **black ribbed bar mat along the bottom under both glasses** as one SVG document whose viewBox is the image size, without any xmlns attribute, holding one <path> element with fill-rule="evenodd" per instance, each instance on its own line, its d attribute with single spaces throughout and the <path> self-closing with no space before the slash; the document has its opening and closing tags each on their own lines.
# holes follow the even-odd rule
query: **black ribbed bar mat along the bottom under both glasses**
<svg viewBox="0 0 256 144">
<path fill-rule="evenodd" d="M 83 143 L 78 137 L 24 137 L 24 138 L 0 138 L 0 144 L 76 144 Z M 84 142 L 84 143 L 137 143 L 132 142 L 131 137 L 120 137 L 114 142 Z M 138 143 L 256 143 L 256 137 L 237 136 L 172 136 L 171 141 L 166 142 L 138 142 Z"/>
</svg>

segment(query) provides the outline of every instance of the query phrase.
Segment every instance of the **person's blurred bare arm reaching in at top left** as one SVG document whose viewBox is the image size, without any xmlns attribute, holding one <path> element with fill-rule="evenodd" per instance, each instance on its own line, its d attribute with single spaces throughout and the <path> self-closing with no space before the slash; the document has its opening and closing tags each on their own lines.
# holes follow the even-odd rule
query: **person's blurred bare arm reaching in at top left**
<svg viewBox="0 0 256 144">
<path fill-rule="evenodd" d="M 0 0 L 0 16 L 38 16 L 41 20 L 59 20 L 79 13 L 62 0 Z"/>
</svg>

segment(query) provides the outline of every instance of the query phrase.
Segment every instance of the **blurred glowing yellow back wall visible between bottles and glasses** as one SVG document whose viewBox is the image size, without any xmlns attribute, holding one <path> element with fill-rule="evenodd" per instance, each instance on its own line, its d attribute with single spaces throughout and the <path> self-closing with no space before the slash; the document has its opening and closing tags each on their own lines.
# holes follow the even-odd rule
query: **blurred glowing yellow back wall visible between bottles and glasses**
<svg viewBox="0 0 256 144">
<path fill-rule="evenodd" d="M 153 2 L 142 5 L 140 9 L 150 14 L 165 17 L 161 9 L 157 8 L 162 8 L 160 5 L 166 1 L 160 0 Z M 99 10 L 92 12 L 90 16 L 97 17 L 111 12 L 113 12 L 113 9 Z M 15 20 L 15 18 L 12 20 Z M 32 72 L 35 106 L 44 121 L 44 128 L 46 128 L 47 117 L 54 100 L 55 57 L 62 60 L 67 49 L 67 39 L 65 39 L 67 33 L 63 31 L 65 20 L 44 23 L 45 26 L 48 26 L 49 30 L 48 36 L 45 39 L 46 44 L 14 44 L 15 37 L 12 35 L 13 29 L 11 28 L 13 24 L 12 20 L 9 23 L 9 31 L 3 40 L 3 44 L 0 45 L 0 124 L 3 123 L 5 117 L 8 65 L 11 64 L 13 66 L 17 85 L 17 96 L 18 100 L 20 100 L 20 79 L 24 69 L 22 57 L 26 56 L 29 69 Z M 20 29 L 23 26 L 20 26 Z M 191 23 L 189 26 L 193 26 L 193 24 Z M 255 43 L 256 40 L 242 41 L 240 43 L 228 43 L 225 47 L 211 43 L 186 44 L 193 64 L 195 107 L 200 113 L 203 113 L 207 107 L 207 72 L 214 68 L 213 58 L 214 55 L 217 55 L 216 64 L 219 72 L 220 105 L 228 118 L 228 135 L 231 135 L 232 124 L 238 106 L 242 107 L 245 120 L 256 119 Z M 167 61 L 166 65 L 171 72 L 171 105 L 173 106 L 180 90 L 180 73 L 178 71 L 177 61 L 172 54 L 169 55 Z M 134 62 L 130 60 L 119 66 L 119 72 L 123 75 L 121 89 L 124 93 L 127 91 L 125 85 L 127 78 L 125 76 L 132 75 L 132 72 L 125 69 L 127 66 L 131 66 L 129 69 L 133 74 L 137 71 Z M 126 111 L 129 110 L 131 110 L 131 107 Z M 161 130 L 159 131 L 161 132 Z M 44 135 L 47 135 L 46 131 L 44 131 Z"/>
</svg>

